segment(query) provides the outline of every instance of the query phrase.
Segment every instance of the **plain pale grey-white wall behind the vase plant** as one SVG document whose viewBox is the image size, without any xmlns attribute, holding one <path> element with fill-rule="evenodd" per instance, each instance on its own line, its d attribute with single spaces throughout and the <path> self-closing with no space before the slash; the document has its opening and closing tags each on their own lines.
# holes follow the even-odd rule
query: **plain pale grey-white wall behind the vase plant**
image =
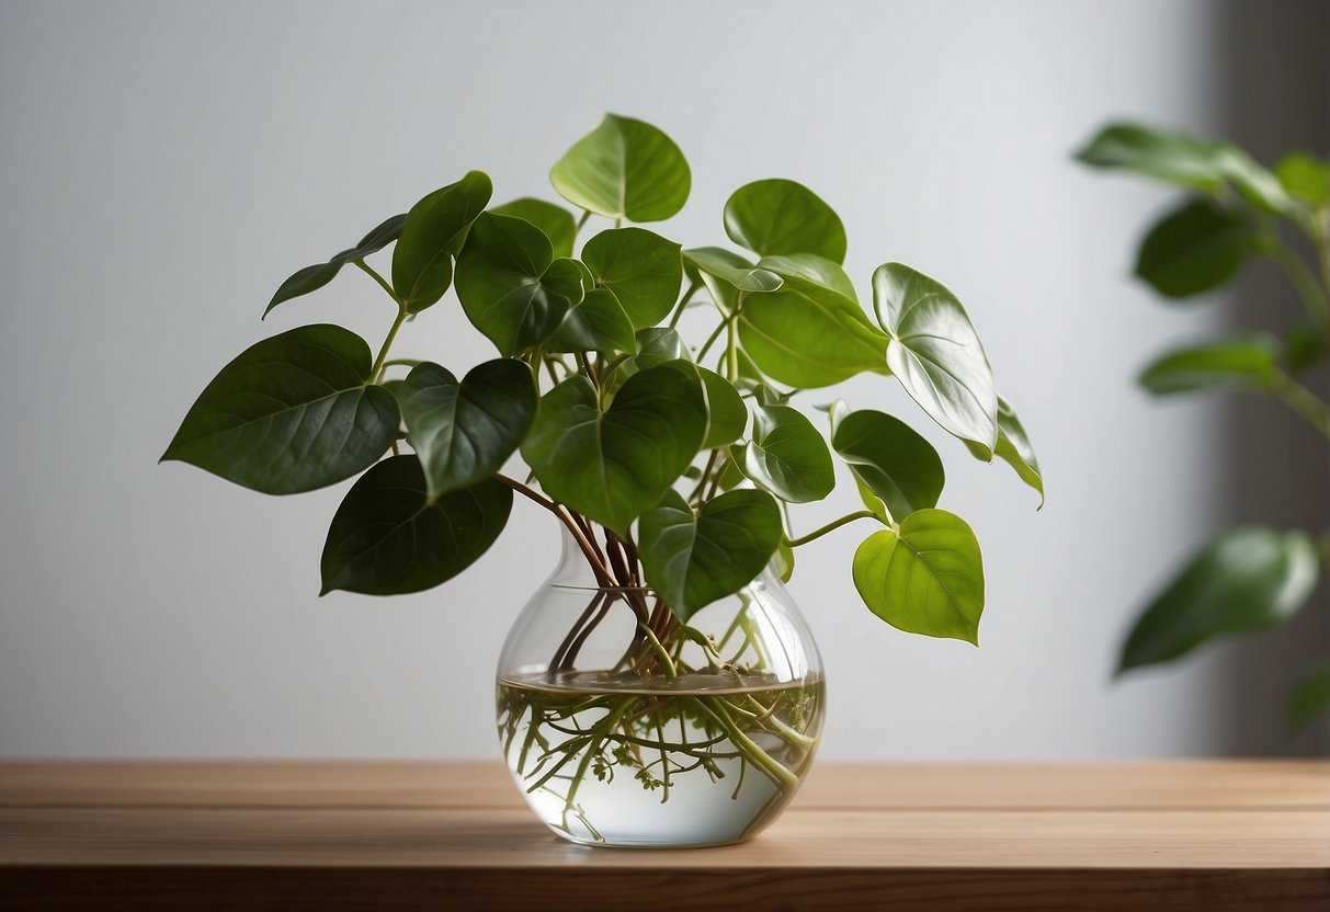
<svg viewBox="0 0 1330 912">
<path fill-rule="evenodd" d="M 601 112 L 693 165 L 661 230 L 724 241 L 728 193 L 811 185 L 861 282 L 899 259 L 967 302 L 1029 427 L 1048 507 L 886 382 L 930 435 L 943 505 L 984 544 L 975 650 L 871 617 L 858 541 L 794 593 L 831 674 L 825 756 L 1224 751 L 1228 653 L 1111 686 L 1124 625 L 1222 518 L 1213 407 L 1130 384 L 1168 311 L 1129 281 L 1165 195 L 1069 150 L 1132 114 L 1221 129 L 1208 3 L 5 3 L 0 5 L 0 754 L 495 756 L 491 674 L 557 536 L 527 505 L 440 590 L 318 592 L 346 485 L 297 499 L 157 465 L 194 396 L 262 335 L 390 310 L 363 277 L 257 318 L 293 269 L 488 170 L 551 195 Z M 1277 61 L 1275 61 L 1277 65 Z M 489 356 L 454 304 L 400 346 Z M 813 528 L 851 495 L 803 514 Z M 811 514 L 809 514 L 811 513 Z"/>
</svg>

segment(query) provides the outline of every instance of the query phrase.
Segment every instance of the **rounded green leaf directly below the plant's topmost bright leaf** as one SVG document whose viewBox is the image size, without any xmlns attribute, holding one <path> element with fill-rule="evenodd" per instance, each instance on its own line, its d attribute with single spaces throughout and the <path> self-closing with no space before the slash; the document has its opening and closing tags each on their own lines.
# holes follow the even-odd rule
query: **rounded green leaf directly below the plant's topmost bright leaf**
<svg viewBox="0 0 1330 912">
<path fill-rule="evenodd" d="M 587 242 L 581 258 L 638 330 L 656 326 L 678 300 L 684 281 L 680 246 L 646 229 L 601 231 Z"/>
</svg>

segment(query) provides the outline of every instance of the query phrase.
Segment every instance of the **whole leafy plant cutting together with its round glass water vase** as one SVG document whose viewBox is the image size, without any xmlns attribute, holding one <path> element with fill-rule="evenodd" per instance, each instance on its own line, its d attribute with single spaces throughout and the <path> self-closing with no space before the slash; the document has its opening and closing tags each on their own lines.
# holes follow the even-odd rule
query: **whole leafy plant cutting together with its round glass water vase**
<svg viewBox="0 0 1330 912">
<path fill-rule="evenodd" d="M 867 608 L 978 645 L 979 542 L 938 508 L 940 456 L 899 417 L 826 391 L 894 379 L 1043 496 L 1039 464 L 956 296 L 886 263 L 870 316 L 842 269 L 845 227 L 807 187 L 734 191 L 724 229 L 746 253 L 684 249 L 640 225 L 682 209 L 688 162 L 617 116 L 551 182 L 573 209 L 493 205 L 471 171 L 297 271 L 265 315 L 350 266 L 386 299 L 376 351 L 330 324 L 257 343 L 164 459 L 271 495 L 359 476 L 331 520 L 325 593 L 436 586 L 493 544 L 515 496 L 528 501 L 564 537 L 499 663 L 499 733 L 528 802 L 577 842 L 745 839 L 798 788 L 821 733 L 821 661 L 782 585 L 798 548 L 858 524 Z M 496 356 L 466 372 L 392 358 L 450 292 Z M 831 493 L 835 457 L 863 508 L 797 528 L 790 508 Z"/>
</svg>

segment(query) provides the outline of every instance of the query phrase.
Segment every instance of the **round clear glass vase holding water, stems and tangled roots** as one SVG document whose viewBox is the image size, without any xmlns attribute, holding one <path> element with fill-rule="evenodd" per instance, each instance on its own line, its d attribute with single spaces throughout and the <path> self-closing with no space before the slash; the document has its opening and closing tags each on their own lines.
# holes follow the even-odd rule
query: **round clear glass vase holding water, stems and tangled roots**
<svg viewBox="0 0 1330 912">
<path fill-rule="evenodd" d="M 817 645 L 773 572 L 682 622 L 649 588 L 598 585 L 567 530 L 499 658 L 508 770 L 588 846 L 750 839 L 802 783 L 823 711 Z"/>
</svg>

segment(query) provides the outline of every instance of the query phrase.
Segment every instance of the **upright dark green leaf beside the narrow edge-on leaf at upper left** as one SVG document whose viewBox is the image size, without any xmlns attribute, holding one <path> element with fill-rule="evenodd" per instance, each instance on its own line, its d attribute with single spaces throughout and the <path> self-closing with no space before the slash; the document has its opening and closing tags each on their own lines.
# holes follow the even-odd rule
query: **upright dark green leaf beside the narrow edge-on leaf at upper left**
<svg viewBox="0 0 1330 912">
<path fill-rule="evenodd" d="M 443 298 L 452 285 L 452 258 L 492 193 L 488 174 L 468 171 L 407 213 L 392 251 L 392 288 L 408 312 L 419 314 Z"/>
</svg>

